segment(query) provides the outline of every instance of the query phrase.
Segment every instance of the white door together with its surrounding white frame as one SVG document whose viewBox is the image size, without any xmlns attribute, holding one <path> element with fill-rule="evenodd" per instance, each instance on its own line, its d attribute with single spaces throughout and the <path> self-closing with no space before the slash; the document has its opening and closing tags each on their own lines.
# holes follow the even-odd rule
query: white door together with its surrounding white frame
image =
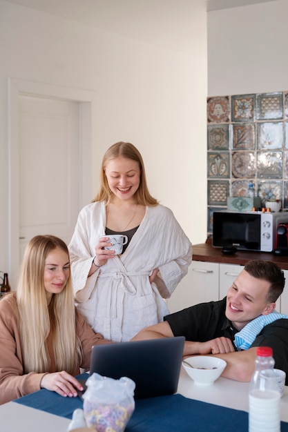
<svg viewBox="0 0 288 432">
<path fill-rule="evenodd" d="M 90 90 L 8 79 L 8 273 L 12 289 L 29 239 L 52 233 L 68 242 L 77 213 L 91 199 L 95 97 L 96 92 Z"/>
</svg>

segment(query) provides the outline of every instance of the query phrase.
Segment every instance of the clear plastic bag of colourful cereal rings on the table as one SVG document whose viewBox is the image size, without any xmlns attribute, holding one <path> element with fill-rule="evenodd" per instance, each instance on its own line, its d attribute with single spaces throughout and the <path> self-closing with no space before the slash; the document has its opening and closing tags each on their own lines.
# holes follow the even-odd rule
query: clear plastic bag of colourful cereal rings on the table
<svg viewBox="0 0 288 432">
<path fill-rule="evenodd" d="M 84 417 L 97 432 L 123 432 L 135 409 L 135 382 L 93 373 L 86 381 Z"/>
</svg>

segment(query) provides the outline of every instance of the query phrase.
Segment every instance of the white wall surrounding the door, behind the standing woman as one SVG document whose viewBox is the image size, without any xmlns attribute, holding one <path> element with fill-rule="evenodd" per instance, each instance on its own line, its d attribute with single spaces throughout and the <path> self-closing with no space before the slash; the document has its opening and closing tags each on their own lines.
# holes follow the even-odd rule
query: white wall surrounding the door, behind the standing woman
<svg viewBox="0 0 288 432">
<path fill-rule="evenodd" d="M 206 20 L 203 12 L 196 53 Z M 131 141 L 151 193 L 194 244 L 205 241 L 207 52 L 168 50 L 0 0 L 0 61 L 0 270 L 9 271 L 8 77 L 96 91 L 93 194 L 106 148 Z"/>
</svg>

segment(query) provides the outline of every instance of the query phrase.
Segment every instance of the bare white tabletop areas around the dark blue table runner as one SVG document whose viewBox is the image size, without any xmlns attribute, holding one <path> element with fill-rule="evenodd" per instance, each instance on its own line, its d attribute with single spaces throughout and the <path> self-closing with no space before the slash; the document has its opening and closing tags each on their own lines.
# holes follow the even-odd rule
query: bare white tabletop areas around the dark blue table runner
<svg viewBox="0 0 288 432">
<path fill-rule="evenodd" d="M 199 386 L 181 370 L 177 393 L 191 399 L 248 412 L 249 383 L 220 377 L 211 386 Z M 288 422 L 288 386 L 281 398 L 281 420 Z M 66 432 L 70 420 L 28 406 L 8 402 L 0 406 L 1 432 Z"/>
</svg>

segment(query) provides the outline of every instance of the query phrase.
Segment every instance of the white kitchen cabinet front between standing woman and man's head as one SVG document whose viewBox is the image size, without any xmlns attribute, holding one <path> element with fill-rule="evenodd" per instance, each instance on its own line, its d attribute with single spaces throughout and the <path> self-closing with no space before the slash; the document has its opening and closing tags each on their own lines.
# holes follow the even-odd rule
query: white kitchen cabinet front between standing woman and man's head
<svg viewBox="0 0 288 432">
<path fill-rule="evenodd" d="M 192 261 L 188 274 L 182 279 L 166 304 L 171 313 L 193 304 L 219 300 L 219 264 Z"/>
</svg>

